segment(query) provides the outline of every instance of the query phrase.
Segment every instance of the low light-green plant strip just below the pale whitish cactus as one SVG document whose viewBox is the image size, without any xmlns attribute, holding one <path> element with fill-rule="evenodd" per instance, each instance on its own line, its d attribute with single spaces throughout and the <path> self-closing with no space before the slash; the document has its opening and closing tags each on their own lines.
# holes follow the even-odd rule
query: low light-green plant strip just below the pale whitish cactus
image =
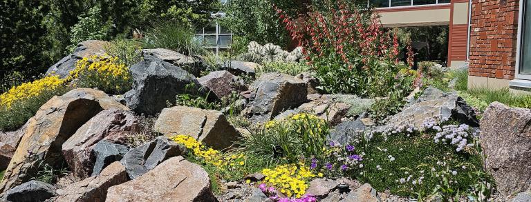
<svg viewBox="0 0 531 202">
<path fill-rule="evenodd" d="M 257 77 L 260 77 L 261 74 L 269 72 L 279 72 L 283 74 L 290 74 L 296 76 L 302 72 L 308 72 L 310 68 L 304 63 L 293 63 L 293 62 L 283 62 L 283 61 L 272 61 L 263 63 L 263 65 L 256 68 L 254 71 L 257 73 Z"/>
</svg>

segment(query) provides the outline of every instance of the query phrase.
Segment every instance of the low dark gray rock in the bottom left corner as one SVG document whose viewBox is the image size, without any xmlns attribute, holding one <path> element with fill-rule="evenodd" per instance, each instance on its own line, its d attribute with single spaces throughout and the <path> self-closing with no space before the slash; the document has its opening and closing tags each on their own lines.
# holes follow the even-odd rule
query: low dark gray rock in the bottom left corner
<svg viewBox="0 0 531 202">
<path fill-rule="evenodd" d="M 8 190 L 3 197 L 11 202 L 34 202 L 45 201 L 55 195 L 53 185 L 32 180 Z"/>
</svg>

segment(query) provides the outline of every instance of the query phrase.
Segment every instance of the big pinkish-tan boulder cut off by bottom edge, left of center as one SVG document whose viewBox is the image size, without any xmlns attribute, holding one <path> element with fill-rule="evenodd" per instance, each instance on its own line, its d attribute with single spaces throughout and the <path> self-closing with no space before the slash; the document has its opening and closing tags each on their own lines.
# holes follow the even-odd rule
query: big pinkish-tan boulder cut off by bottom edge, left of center
<svg viewBox="0 0 531 202">
<path fill-rule="evenodd" d="M 109 188 L 106 201 L 207 202 L 215 199 L 207 172 L 183 156 L 176 156 L 137 179 Z"/>
</svg>

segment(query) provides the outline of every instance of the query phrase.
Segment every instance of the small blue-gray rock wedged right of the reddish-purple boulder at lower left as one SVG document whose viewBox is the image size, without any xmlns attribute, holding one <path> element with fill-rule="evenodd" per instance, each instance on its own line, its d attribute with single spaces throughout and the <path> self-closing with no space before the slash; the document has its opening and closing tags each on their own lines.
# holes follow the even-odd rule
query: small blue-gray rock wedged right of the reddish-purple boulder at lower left
<svg viewBox="0 0 531 202">
<path fill-rule="evenodd" d="M 124 145 L 105 140 L 98 142 L 92 150 L 95 161 L 91 176 L 99 175 L 107 165 L 122 160 L 128 151 L 129 149 Z"/>
</svg>

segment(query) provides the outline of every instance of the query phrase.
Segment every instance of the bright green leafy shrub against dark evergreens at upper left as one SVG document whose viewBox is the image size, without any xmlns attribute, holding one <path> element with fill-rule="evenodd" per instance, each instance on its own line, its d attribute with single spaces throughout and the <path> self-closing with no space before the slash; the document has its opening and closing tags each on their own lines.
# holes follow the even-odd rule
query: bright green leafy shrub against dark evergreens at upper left
<svg viewBox="0 0 531 202">
<path fill-rule="evenodd" d="M 86 40 L 106 40 L 109 38 L 111 23 L 102 21 L 102 9 L 94 6 L 85 14 L 78 16 L 79 21 L 71 28 L 68 52 L 73 52 L 77 43 Z"/>
</svg>

